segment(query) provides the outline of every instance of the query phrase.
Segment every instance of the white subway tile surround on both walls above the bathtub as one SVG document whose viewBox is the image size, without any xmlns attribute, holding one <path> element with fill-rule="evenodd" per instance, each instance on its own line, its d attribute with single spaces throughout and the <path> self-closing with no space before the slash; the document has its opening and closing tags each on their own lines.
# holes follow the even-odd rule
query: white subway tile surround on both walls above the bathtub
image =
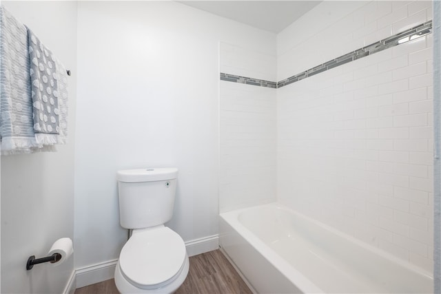
<svg viewBox="0 0 441 294">
<path fill-rule="evenodd" d="M 278 34 L 277 56 L 221 43 L 220 72 L 289 81 L 431 14 L 324 1 Z M 432 35 L 398 39 L 278 89 L 221 78 L 220 212 L 277 201 L 431 275 Z"/>
</svg>

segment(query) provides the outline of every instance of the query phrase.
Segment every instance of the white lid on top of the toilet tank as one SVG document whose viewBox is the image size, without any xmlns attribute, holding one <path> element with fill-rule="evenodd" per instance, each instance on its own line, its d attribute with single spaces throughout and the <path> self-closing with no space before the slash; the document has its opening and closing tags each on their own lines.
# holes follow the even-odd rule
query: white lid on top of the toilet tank
<svg viewBox="0 0 441 294">
<path fill-rule="evenodd" d="M 153 182 L 156 180 L 173 180 L 178 177 L 176 167 L 159 169 L 123 169 L 118 171 L 119 182 Z"/>
</svg>

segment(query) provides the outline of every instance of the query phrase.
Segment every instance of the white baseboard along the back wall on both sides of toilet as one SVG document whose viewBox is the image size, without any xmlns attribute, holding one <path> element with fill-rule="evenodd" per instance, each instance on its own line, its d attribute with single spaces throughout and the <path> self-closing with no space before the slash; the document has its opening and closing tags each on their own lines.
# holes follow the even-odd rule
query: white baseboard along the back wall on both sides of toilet
<svg viewBox="0 0 441 294">
<path fill-rule="evenodd" d="M 208 237 L 185 242 L 185 248 L 187 249 L 188 256 L 219 249 L 219 235 L 210 235 Z M 76 279 L 74 279 L 74 282 L 76 280 L 76 288 L 113 279 L 116 262 L 118 262 L 118 260 L 110 260 L 76 269 Z"/>
</svg>

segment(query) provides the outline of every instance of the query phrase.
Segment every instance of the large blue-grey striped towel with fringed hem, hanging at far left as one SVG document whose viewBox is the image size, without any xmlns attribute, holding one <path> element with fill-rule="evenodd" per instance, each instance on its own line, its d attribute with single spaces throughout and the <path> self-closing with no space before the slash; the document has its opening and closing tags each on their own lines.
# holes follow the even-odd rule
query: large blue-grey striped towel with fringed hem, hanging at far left
<svg viewBox="0 0 441 294">
<path fill-rule="evenodd" d="M 30 153 L 34 136 L 28 33 L 0 6 L 0 149 L 1 154 Z"/>
</svg>

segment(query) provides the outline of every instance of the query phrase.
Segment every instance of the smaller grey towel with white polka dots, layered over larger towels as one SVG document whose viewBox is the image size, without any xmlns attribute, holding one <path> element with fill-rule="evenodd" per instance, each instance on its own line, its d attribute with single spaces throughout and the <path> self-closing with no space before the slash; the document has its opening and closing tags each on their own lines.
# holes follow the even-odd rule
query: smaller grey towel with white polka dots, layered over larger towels
<svg viewBox="0 0 441 294">
<path fill-rule="evenodd" d="M 28 43 L 35 139 L 39 145 L 54 145 L 60 134 L 56 59 L 29 28 Z"/>
</svg>

